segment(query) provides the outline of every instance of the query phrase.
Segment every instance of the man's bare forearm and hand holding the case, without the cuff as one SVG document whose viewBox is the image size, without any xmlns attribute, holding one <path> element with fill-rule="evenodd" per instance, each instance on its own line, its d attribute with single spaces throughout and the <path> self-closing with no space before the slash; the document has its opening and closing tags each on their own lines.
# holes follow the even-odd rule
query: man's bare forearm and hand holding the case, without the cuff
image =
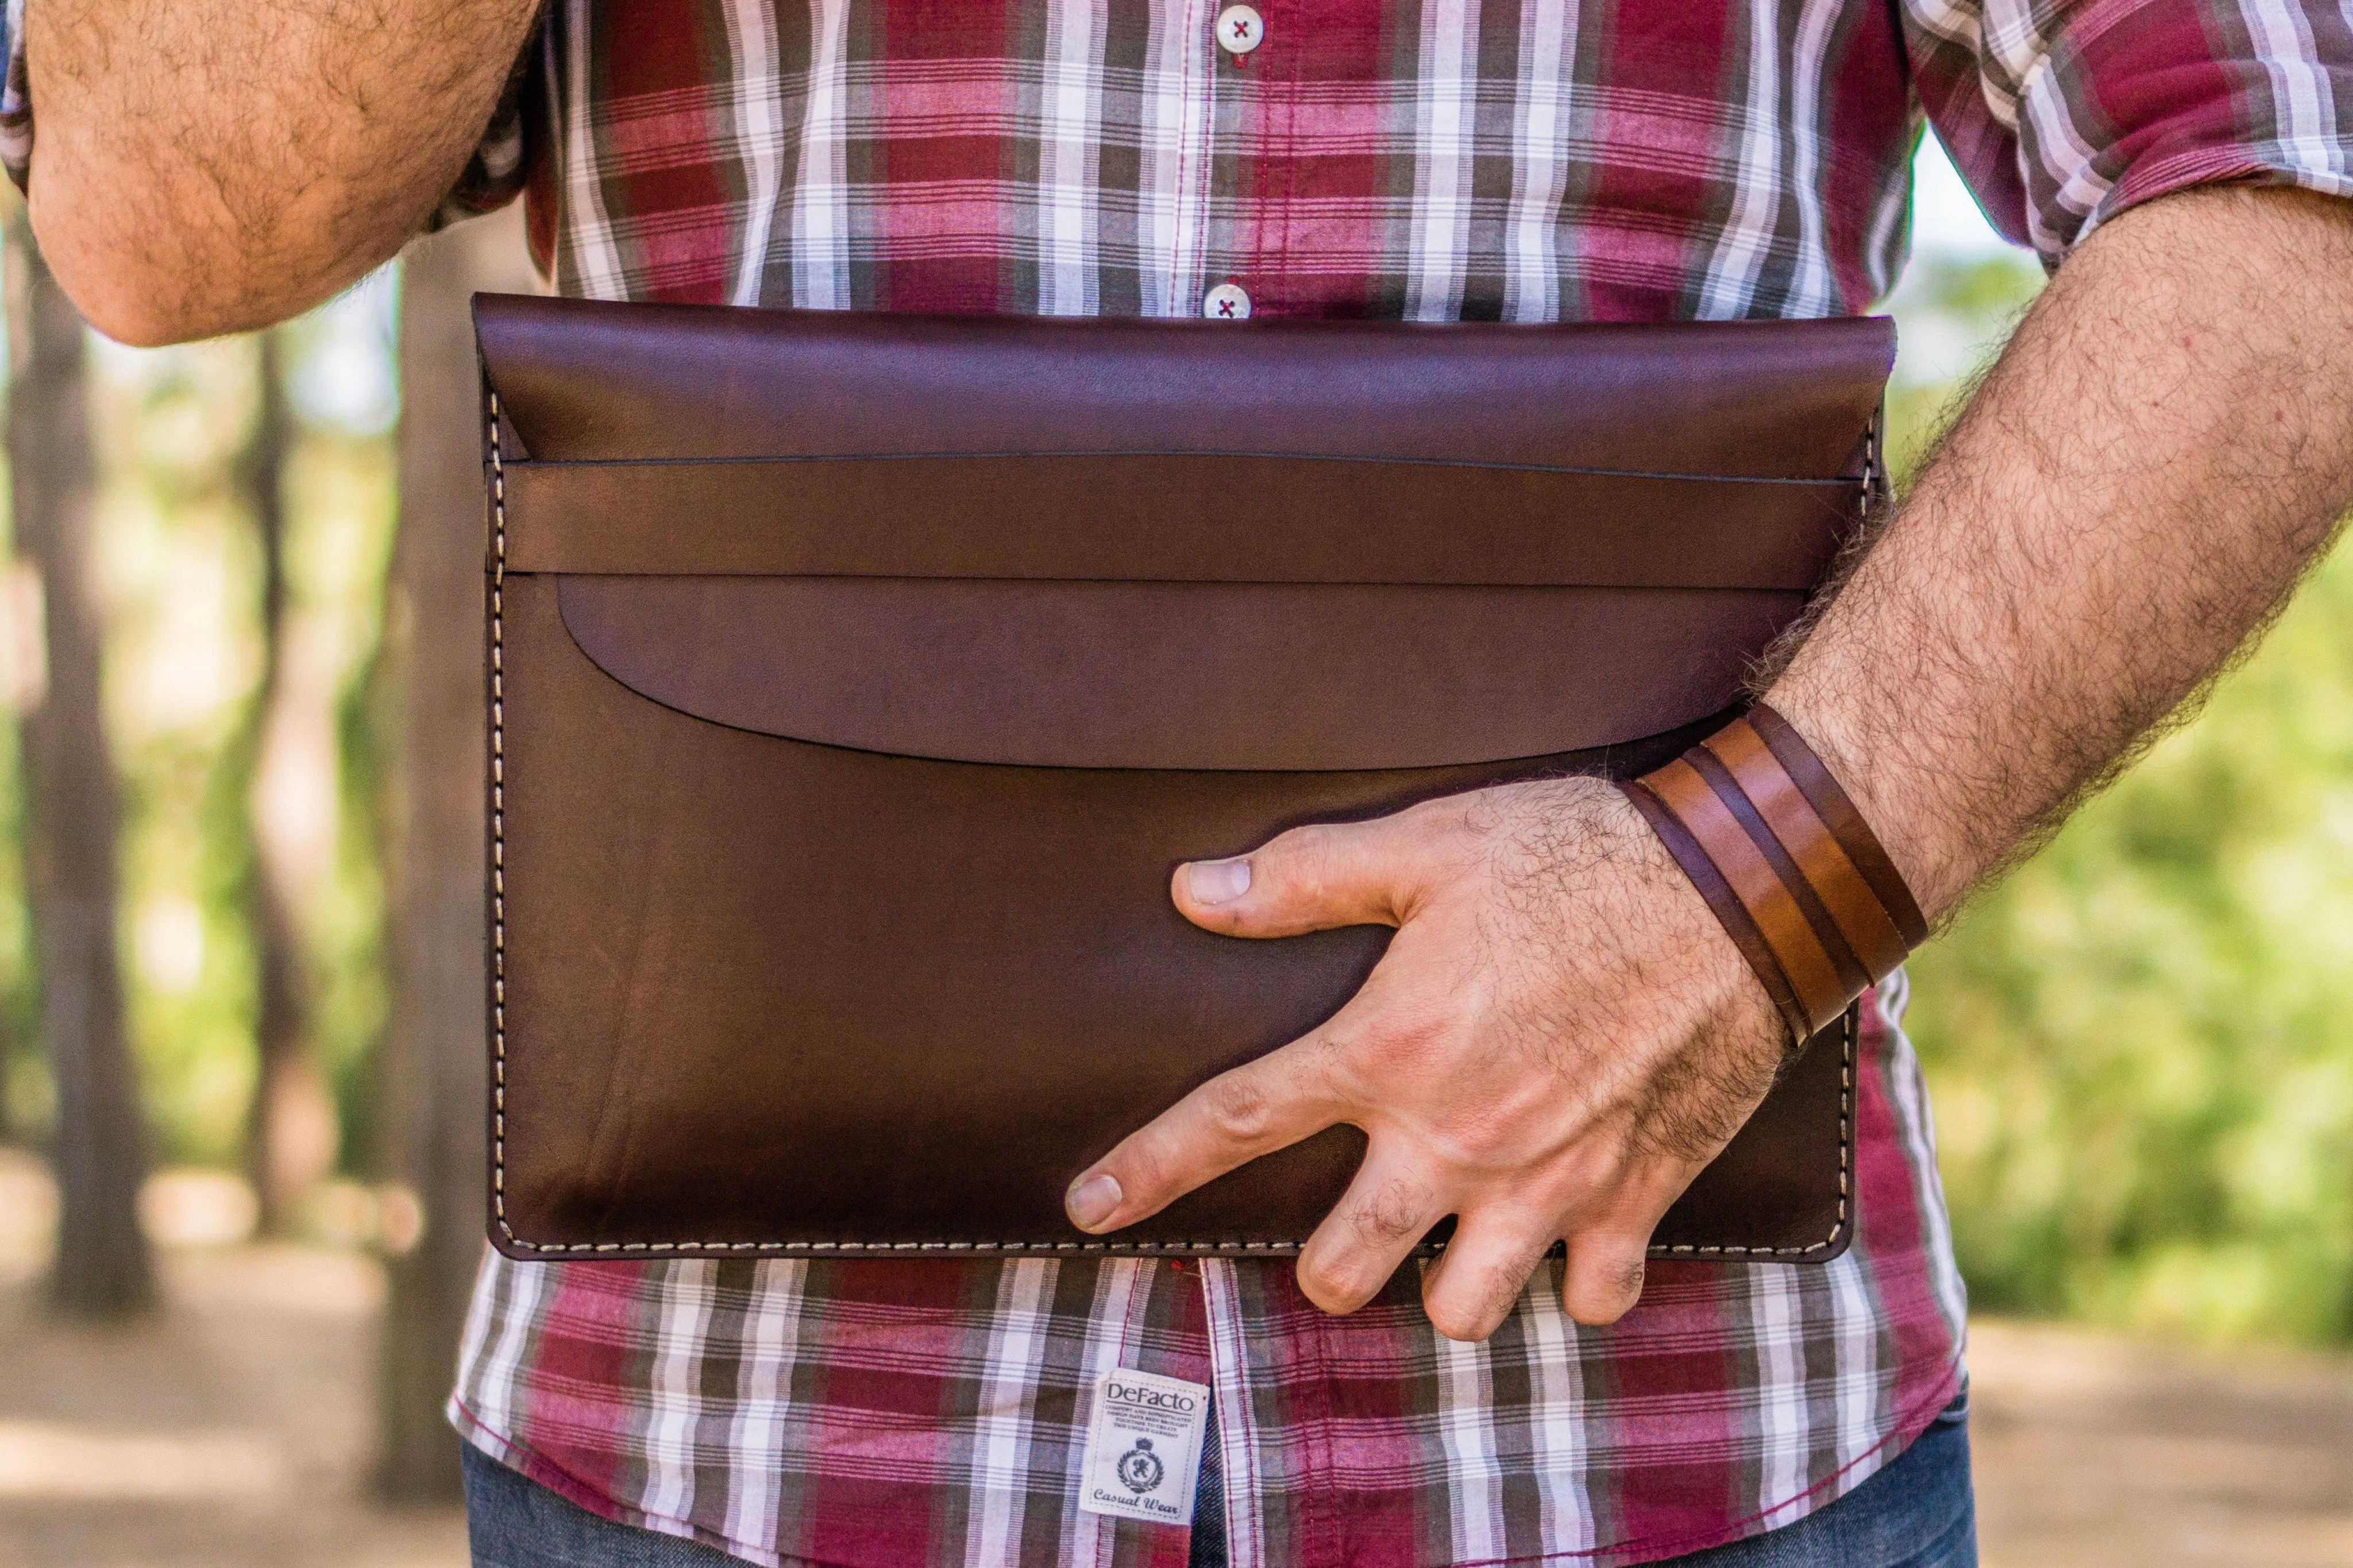
<svg viewBox="0 0 2353 1568">
<path fill-rule="evenodd" d="M 1779 651 L 1767 696 L 1929 919 L 2179 710 L 2332 536 L 2353 498 L 2348 275 L 2341 200 L 2191 190 L 2113 219 Z M 1454 1213 L 1424 1286 L 1442 1333 L 1489 1333 L 1562 1237 L 1567 1309 L 1614 1319 L 1652 1225 L 1779 1060 L 1732 940 L 1595 783 L 1287 832 L 1184 867 L 1176 905 L 1233 936 L 1398 936 L 1332 1023 L 1122 1143 L 1071 1215 L 1118 1229 L 1351 1121 L 1365 1166 L 1299 1260 L 1334 1312 Z"/>
</svg>

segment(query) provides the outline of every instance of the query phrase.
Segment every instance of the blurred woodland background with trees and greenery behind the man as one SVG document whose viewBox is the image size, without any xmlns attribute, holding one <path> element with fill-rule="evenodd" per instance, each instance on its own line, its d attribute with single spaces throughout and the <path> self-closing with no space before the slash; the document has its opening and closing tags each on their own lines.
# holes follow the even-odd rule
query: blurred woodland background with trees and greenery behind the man
<svg viewBox="0 0 2353 1568">
<path fill-rule="evenodd" d="M 2042 282 L 1934 141 L 1913 252 L 1899 465 Z M 506 214 L 125 350 L 7 214 L 0 1568 L 464 1561 L 464 299 L 527 287 Z M 1913 973 L 1986 1561 L 2353 1563 L 2353 559 Z"/>
</svg>

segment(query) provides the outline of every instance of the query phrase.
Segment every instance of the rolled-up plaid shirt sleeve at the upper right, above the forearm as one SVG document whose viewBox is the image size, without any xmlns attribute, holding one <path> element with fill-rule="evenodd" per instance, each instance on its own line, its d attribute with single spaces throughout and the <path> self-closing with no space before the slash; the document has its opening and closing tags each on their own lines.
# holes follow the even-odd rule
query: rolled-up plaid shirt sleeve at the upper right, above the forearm
<svg viewBox="0 0 2353 1568">
<path fill-rule="evenodd" d="M 2353 24 L 2318 0 L 1899 0 L 1913 87 L 2045 266 L 2219 181 L 2353 195 Z"/>
</svg>

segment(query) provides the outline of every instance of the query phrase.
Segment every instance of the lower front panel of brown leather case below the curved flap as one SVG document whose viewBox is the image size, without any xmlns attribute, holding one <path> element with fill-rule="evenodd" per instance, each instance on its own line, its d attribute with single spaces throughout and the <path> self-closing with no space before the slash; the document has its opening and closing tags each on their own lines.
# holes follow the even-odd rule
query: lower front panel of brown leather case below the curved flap
<svg viewBox="0 0 2353 1568">
<path fill-rule="evenodd" d="M 1179 860 L 1508 778 L 1645 769 L 1713 724 L 1457 766 L 951 762 L 654 701 L 581 651 L 576 585 L 501 590 L 496 1239 L 518 1255 L 1104 1251 L 1064 1220 L 1064 1185 L 1327 1018 L 1388 943 L 1205 933 L 1169 907 Z M 1826 1044 L 1668 1215 L 1661 1255 L 1842 1244 L 1852 1039 Z M 1111 1251 L 1289 1251 L 1360 1150 L 1351 1128 L 1313 1138 Z"/>
</svg>

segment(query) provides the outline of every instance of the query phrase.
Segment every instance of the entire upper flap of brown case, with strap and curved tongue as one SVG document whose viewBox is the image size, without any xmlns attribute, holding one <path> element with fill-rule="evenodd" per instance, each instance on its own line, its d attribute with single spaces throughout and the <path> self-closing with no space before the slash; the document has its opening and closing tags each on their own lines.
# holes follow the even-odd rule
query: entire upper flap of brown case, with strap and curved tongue
<svg viewBox="0 0 2353 1568">
<path fill-rule="evenodd" d="M 1894 343 L 475 317 L 499 559 L 562 578 L 600 670 L 736 729 L 1071 769 L 1464 766 L 1732 705 L 1852 534 Z"/>
</svg>

